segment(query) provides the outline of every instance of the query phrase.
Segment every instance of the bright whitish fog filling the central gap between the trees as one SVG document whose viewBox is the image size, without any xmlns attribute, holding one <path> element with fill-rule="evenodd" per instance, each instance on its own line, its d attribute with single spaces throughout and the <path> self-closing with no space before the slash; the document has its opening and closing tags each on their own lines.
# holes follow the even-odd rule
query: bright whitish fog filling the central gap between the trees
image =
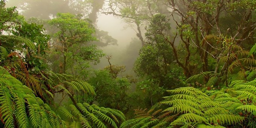
<svg viewBox="0 0 256 128">
<path fill-rule="evenodd" d="M 135 30 L 132 26 L 124 23 L 122 19 L 105 14 L 99 14 L 97 26 L 100 30 L 107 31 L 111 37 L 117 40 L 117 45 L 99 48 L 107 55 L 112 55 L 111 63 L 126 66 L 126 71 L 132 73 L 133 64 L 139 55 L 139 48 L 141 47 L 141 42 L 136 37 Z M 137 44 L 134 44 L 134 41 Z M 132 58 L 129 57 L 131 55 L 133 56 Z M 102 68 L 105 66 L 108 66 L 107 59 L 102 58 L 101 63 L 93 67 Z"/>
</svg>

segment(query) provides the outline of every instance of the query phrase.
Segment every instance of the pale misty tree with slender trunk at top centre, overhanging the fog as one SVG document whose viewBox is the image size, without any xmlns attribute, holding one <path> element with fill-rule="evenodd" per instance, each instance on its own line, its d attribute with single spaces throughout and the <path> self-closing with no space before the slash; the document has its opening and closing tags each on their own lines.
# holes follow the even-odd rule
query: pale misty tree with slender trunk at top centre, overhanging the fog
<svg viewBox="0 0 256 128">
<path fill-rule="evenodd" d="M 103 8 L 102 13 L 108 15 L 113 14 L 123 18 L 127 23 L 136 24 L 136 35 L 144 45 L 143 33 L 141 26 L 144 21 L 149 20 L 156 13 L 155 5 L 151 4 L 151 0 L 110 0 L 108 8 Z M 152 10 L 151 10 L 152 8 Z"/>
</svg>

